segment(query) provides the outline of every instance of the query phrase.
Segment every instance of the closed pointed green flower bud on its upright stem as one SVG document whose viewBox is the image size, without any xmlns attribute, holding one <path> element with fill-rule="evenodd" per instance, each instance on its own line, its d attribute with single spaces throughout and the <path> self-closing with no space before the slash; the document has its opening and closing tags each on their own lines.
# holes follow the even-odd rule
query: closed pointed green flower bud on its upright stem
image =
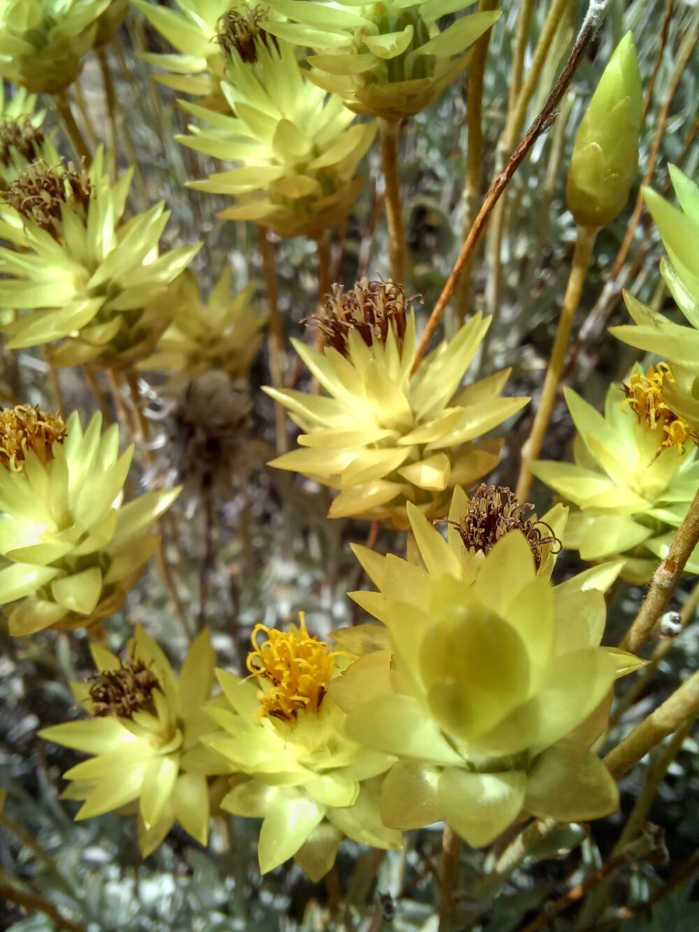
<svg viewBox="0 0 699 932">
<path fill-rule="evenodd" d="M 641 119 L 636 46 L 627 33 L 599 80 L 573 145 L 566 195 L 579 226 L 606 226 L 624 210 L 638 168 Z"/>
</svg>

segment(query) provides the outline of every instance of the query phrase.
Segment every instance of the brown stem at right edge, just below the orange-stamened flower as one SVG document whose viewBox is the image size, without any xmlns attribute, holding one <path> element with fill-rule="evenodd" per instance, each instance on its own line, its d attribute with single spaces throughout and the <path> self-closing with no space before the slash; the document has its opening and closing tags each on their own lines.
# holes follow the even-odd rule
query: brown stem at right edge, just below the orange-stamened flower
<svg viewBox="0 0 699 932">
<path fill-rule="evenodd" d="M 624 651 L 637 653 L 651 639 L 653 628 L 667 608 L 697 541 L 699 541 L 699 491 L 694 495 L 684 521 L 672 539 L 667 556 L 653 573 L 651 588 L 646 593 L 636 619 L 620 645 Z"/>
</svg>

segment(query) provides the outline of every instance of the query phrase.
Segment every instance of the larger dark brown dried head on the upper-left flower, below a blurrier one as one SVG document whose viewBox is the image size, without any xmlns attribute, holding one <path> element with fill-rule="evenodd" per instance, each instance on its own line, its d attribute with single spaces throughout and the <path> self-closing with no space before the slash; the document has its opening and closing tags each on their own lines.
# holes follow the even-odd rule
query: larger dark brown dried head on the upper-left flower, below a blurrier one
<svg viewBox="0 0 699 932">
<path fill-rule="evenodd" d="M 48 168 L 37 161 L 7 185 L 4 198 L 10 207 L 60 240 L 62 206 L 70 204 L 85 213 L 91 193 L 92 183 L 85 171 L 62 165 Z"/>
</svg>

